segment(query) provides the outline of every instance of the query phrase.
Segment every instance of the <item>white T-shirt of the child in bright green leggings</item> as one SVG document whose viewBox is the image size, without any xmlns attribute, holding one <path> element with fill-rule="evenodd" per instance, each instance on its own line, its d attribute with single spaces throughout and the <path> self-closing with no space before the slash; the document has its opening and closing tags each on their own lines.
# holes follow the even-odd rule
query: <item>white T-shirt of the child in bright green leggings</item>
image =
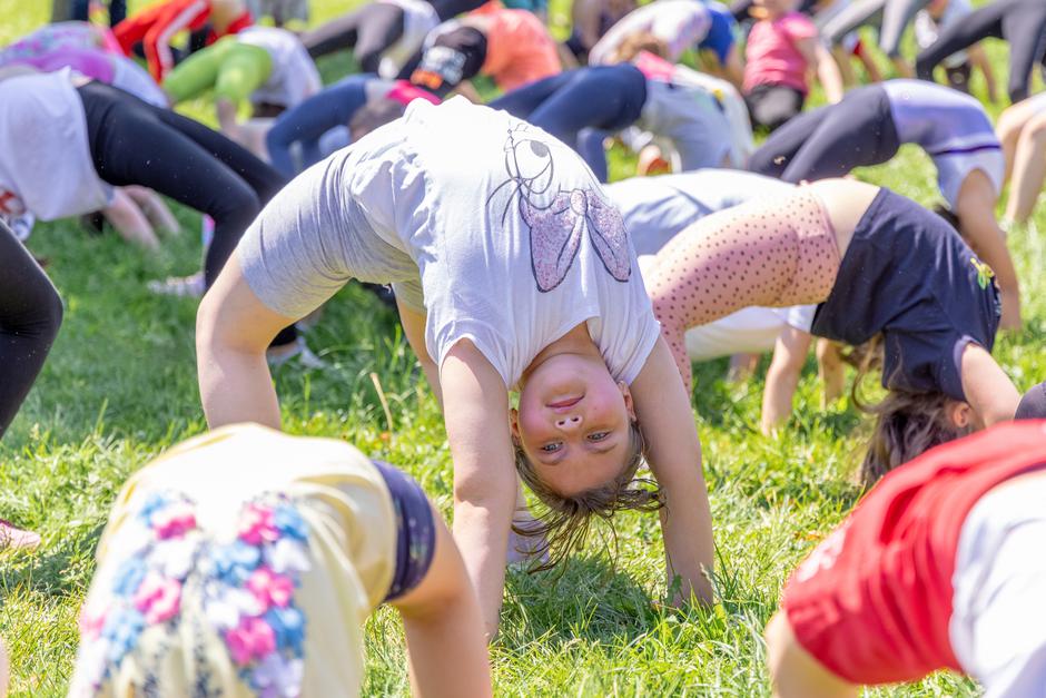
<svg viewBox="0 0 1046 698">
<path fill-rule="evenodd" d="M 296 107 L 323 88 L 316 63 L 297 36 L 276 27 L 248 27 L 238 32 L 240 43 L 257 46 L 273 57 L 273 73 L 250 95 L 253 104 Z"/>
</svg>

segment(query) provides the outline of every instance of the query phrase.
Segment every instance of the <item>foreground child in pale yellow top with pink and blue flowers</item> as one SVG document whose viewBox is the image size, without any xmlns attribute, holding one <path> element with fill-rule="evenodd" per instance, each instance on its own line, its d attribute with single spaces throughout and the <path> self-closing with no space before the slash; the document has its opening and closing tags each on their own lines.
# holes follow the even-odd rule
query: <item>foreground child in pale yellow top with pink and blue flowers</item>
<svg viewBox="0 0 1046 698">
<path fill-rule="evenodd" d="M 356 696 L 382 603 L 416 695 L 491 695 L 438 512 L 347 443 L 251 424 L 186 441 L 124 486 L 97 560 L 70 696 Z"/>
</svg>

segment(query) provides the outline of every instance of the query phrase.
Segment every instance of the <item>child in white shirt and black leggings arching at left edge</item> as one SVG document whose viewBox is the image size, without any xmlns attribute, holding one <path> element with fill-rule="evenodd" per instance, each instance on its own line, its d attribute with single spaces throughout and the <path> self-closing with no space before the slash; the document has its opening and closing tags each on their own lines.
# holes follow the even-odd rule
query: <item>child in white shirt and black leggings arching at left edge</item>
<svg viewBox="0 0 1046 698">
<path fill-rule="evenodd" d="M 0 82 L 0 142 L 10 156 L 0 161 L 0 214 L 53 220 L 105 208 L 112 187 L 149 187 L 214 219 L 209 286 L 283 177 L 198 121 L 85 80 L 61 71 Z M 277 344 L 290 352 L 294 338 L 288 331 Z"/>
</svg>

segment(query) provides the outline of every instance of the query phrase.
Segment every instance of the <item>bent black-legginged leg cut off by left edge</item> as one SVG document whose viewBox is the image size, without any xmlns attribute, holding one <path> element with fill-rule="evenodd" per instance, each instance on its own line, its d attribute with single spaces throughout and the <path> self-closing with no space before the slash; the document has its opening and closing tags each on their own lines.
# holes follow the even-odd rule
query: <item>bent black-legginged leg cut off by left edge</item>
<svg viewBox="0 0 1046 698">
<path fill-rule="evenodd" d="M 43 367 L 61 315 L 51 281 L 0 220 L 0 438 Z"/>
</svg>

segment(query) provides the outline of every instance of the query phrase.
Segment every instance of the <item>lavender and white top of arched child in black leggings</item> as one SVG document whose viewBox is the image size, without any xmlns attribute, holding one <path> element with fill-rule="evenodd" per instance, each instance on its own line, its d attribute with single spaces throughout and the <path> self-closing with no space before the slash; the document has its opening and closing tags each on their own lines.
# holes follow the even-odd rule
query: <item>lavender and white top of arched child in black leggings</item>
<svg viewBox="0 0 1046 698">
<path fill-rule="evenodd" d="M 937 166 L 937 185 L 955 209 L 966 176 L 979 169 L 1003 191 L 1005 159 L 991 119 L 976 98 L 926 80 L 882 82 L 901 142 L 920 146 Z"/>
</svg>

